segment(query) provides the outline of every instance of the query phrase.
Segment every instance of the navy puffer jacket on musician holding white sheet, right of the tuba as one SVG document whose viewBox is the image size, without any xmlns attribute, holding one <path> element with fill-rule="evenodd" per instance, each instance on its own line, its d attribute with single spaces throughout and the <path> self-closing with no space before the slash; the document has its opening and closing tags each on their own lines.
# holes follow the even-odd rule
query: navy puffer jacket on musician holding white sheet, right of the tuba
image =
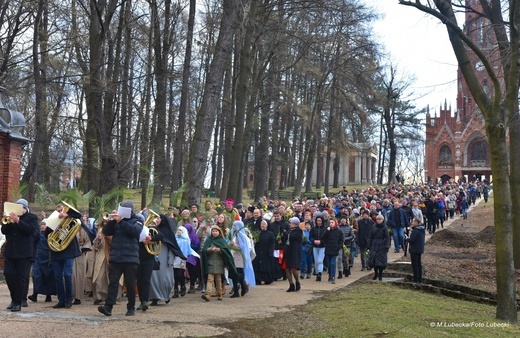
<svg viewBox="0 0 520 338">
<path fill-rule="evenodd" d="M 110 262 L 139 264 L 139 234 L 142 226 L 134 214 L 119 223 L 112 220 L 103 228 L 105 236 L 112 236 Z"/>
</svg>

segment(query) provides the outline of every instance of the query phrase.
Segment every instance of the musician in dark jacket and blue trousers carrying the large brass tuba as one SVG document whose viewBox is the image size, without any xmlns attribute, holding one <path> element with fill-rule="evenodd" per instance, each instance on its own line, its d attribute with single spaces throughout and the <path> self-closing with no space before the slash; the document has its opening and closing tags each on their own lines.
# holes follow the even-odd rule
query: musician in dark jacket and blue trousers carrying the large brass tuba
<svg viewBox="0 0 520 338">
<path fill-rule="evenodd" d="M 68 208 L 67 212 L 64 212 L 63 204 L 58 204 L 56 211 L 59 213 L 58 217 L 60 219 L 73 218 L 80 220 L 81 227 L 92 236 L 86 224 L 81 221 L 81 214 L 78 211 L 73 208 Z M 45 237 L 48 238 L 53 231 L 52 228 L 47 226 L 45 228 Z M 91 237 L 91 240 L 92 239 Z M 72 307 L 72 268 L 74 259 L 78 256 L 81 256 L 81 251 L 79 250 L 79 243 L 76 237 L 72 239 L 64 250 L 51 250 L 51 263 L 56 282 L 56 291 L 58 293 L 58 303 L 53 306 L 54 309 L 69 309 Z"/>
</svg>

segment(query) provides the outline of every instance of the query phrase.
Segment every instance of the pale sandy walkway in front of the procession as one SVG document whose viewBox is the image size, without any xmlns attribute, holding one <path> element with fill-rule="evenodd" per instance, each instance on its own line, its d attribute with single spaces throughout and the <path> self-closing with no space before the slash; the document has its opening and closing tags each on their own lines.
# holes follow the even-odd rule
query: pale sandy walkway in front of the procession
<svg viewBox="0 0 520 338">
<path fill-rule="evenodd" d="M 451 220 L 445 222 L 445 228 Z M 429 235 L 427 235 L 429 238 Z M 392 246 L 393 248 L 393 246 Z M 389 261 L 396 261 L 402 256 L 388 253 Z M 116 305 L 112 317 L 106 317 L 97 311 L 93 299 L 86 297 L 81 305 L 71 309 L 53 309 L 52 303 L 43 302 L 39 296 L 37 303 L 29 302 L 29 307 L 21 312 L 5 310 L 10 303 L 9 292 L 5 282 L 0 284 L 0 332 L 2 337 L 179 337 L 179 336 L 213 336 L 225 334 L 218 324 L 233 321 L 237 318 L 262 318 L 275 313 L 288 311 L 293 306 L 306 304 L 320 297 L 325 291 L 338 290 L 352 282 L 372 274 L 371 271 L 360 271 L 359 257 L 355 259 L 352 275 L 338 279 L 336 284 L 326 281 L 316 282 L 315 278 L 301 281 L 299 292 L 285 292 L 287 281 L 278 281 L 271 285 L 251 288 L 251 291 L 240 298 L 229 298 L 222 301 L 212 299 L 203 301 L 201 293 L 187 294 L 185 297 L 172 299 L 169 304 L 150 307 L 146 312 L 136 311 L 134 317 L 126 317 L 126 299 Z"/>
</svg>

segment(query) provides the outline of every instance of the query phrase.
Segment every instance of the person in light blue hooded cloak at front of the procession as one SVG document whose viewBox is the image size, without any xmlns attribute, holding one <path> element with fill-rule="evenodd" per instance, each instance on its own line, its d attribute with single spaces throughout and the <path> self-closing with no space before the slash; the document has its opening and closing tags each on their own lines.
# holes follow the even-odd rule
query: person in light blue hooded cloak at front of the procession
<svg viewBox="0 0 520 338">
<path fill-rule="evenodd" d="M 242 296 L 249 292 L 249 285 L 256 286 L 255 272 L 253 270 L 253 263 L 251 260 L 251 250 L 249 248 L 249 238 L 247 236 L 247 228 L 242 221 L 233 222 L 231 228 L 231 241 L 229 245 L 234 247 L 233 260 L 235 267 L 242 278 L 233 280 L 233 295 L 231 298 Z M 240 250 L 240 251 L 239 251 Z M 240 284 L 240 295 L 238 293 L 238 286 Z"/>
</svg>

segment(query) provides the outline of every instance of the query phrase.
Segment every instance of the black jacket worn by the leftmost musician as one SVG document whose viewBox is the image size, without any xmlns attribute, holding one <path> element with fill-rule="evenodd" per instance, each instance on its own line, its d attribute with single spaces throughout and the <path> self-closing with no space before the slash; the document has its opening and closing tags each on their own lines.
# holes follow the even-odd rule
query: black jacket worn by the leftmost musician
<svg viewBox="0 0 520 338">
<path fill-rule="evenodd" d="M 38 217 L 35 214 L 26 212 L 20 216 L 18 223 L 3 224 L 1 228 L 6 239 L 4 257 L 33 258 L 35 235 L 39 236 Z"/>
</svg>

